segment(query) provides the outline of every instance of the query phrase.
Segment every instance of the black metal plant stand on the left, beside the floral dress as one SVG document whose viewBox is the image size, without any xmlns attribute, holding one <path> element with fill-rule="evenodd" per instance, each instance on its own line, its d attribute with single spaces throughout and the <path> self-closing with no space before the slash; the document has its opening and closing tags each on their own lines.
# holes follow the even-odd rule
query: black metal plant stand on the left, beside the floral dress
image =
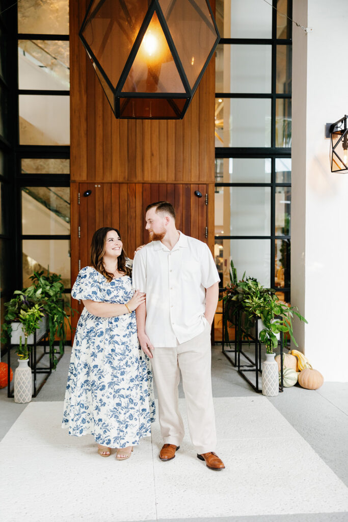
<svg viewBox="0 0 348 522">
<path fill-rule="evenodd" d="M 47 379 L 49 378 L 49 376 L 51 375 L 52 370 L 53 370 L 53 358 L 57 352 L 55 350 L 50 350 L 50 348 L 48 348 L 48 350 L 47 350 L 48 334 L 49 334 L 49 330 L 46 329 L 46 331 L 44 331 L 44 333 L 39 338 L 37 338 L 37 333 L 35 331 L 34 332 L 34 342 L 32 345 L 30 345 L 32 348 L 30 350 L 29 361 L 30 361 L 31 373 L 34 376 L 32 397 L 36 397 L 38 395 L 42 386 L 45 384 L 45 382 L 47 381 Z M 38 357 L 37 347 L 39 346 L 40 341 L 42 341 L 40 343 L 40 346 L 43 345 L 43 353 L 40 355 L 40 357 Z M 14 388 L 11 390 L 11 383 L 10 383 L 10 355 L 11 355 L 10 351 L 11 351 L 11 345 L 8 345 L 8 347 L 7 347 L 7 372 L 8 372 L 7 397 L 13 398 L 14 397 Z M 41 359 L 45 355 L 49 355 L 50 366 L 49 367 L 38 366 L 38 363 L 41 361 Z M 63 347 L 63 353 L 60 354 L 60 356 L 57 359 L 57 362 L 59 362 L 62 359 L 63 355 L 64 355 L 64 347 Z M 47 376 L 43 379 L 43 381 L 39 387 L 37 387 L 37 375 L 38 374 L 47 374 Z"/>
</svg>

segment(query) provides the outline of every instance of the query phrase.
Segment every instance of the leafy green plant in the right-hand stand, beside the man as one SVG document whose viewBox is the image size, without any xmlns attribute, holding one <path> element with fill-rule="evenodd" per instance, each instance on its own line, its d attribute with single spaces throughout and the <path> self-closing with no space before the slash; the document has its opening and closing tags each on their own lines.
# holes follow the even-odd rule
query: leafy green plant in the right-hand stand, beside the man
<svg viewBox="0 0 348 522">
<path fill-rule="evenodd" d="M 293 335 L 292 319 L 296 316 L 300 321 L 305 323 L 307 321 L 298 312 L 297 307 L 281 302 L 275 295 L 275 290 L 263 287 L 255 278 L 244 280 L 244 277 L 245 272 L 242 280 L 237 281 L 236 269 L 231 260 L 231 284 L 227 286 L 222 298 L 225 305 L 226 342 L 229 342 L 227 321 L 235 324 L 236 336 L 240 338 L 244 331 L 248 338 L 250 327 L 254 325 L 257 318 L 260 318 L 263 328 L 259 333 L 259 340 L 266 345 L 267 353 L 273 353 L 273 348 L 277 347 L 277 334 L 281 331 L 288 332 L 295 346 L 298 346 Z"/>
</svg>

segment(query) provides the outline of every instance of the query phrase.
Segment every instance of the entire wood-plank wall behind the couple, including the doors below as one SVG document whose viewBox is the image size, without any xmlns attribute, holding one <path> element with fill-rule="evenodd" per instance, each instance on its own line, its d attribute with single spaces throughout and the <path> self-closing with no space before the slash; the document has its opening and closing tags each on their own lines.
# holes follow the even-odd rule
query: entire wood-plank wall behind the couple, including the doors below
<svg viewBox="0 0 348 522">
<path fill-rule="evenodd" d="M 179 230 L 214 243 L 214 60 L 183 120 L 116 120 L 78 38 L 88 4 L 70 0 L 69 8 L 72 284 L 78 260 L 89 264 L 97 228 L 119 228 L 129 257 L 148 242 L 144 212 L 153 201 L 171 201 Z M 208 207 L 201 205 L 206 192 Z"/>
</svg>

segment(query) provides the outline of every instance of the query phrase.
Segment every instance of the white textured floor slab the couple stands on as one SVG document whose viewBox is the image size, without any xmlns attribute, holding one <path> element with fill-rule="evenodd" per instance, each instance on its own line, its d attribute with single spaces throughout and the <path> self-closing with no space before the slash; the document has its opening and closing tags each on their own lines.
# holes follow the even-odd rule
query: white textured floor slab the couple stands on
<svg viewBox="0 0 348 522">
<path fill-rule="evenodd" d="M 159 426 L 124 462 L 61 429 L 62 402 L 31 402 L 0 443 L 4 522 L 126 522 L 348 512 L 348 488 L 262 396 L 215 398 L 226 469 L 196 458 L 187 436 L 161 462 Z M 185 417 L 185 401 L 180 399 Z M 186 424 L 186 422 L 185 422 Z M 348 514 L 347 514 L 348 518 Z M 329 518 L 328 518 L 329 520 Z"/>
</svg>

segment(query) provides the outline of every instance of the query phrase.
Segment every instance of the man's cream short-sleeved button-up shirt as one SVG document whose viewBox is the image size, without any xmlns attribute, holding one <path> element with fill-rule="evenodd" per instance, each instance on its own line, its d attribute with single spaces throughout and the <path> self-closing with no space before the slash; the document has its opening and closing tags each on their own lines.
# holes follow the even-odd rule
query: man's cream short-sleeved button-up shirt
<svg viewBox="0 0 348 522">
<path fill-rule="evenodd" d="M 154 347 L 175 347 L 206 325 L 206 288 L 220 280 L 206 243 L 180 232 L 172 250 L 152 241 L 133 262 L 133 287 L 146 293 L 145 331 Z"/>
</svg>

